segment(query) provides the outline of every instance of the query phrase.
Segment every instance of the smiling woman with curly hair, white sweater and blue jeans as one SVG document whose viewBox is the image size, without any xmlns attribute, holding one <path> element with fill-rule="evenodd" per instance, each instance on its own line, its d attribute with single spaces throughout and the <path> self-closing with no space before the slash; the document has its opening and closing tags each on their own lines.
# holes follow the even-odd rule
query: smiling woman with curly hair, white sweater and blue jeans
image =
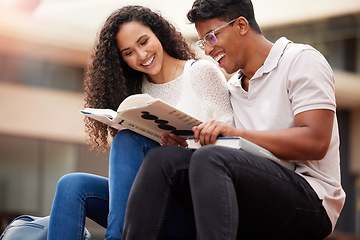
<svg viewBox="0 0 360 240">
<path fill-rule="evenodd" d="M 225 77 L 212 63 L 193 60 L 182 35 L 159 14 L 126 6 L 106 20 L 85 75 L 86 107 L 117 109 L 127 96 L 148 93 L 194 117 L 233 124 Z M 85 217 L 121 239 L 131 185 L 145 154 L 160 146 L 129 130 L 86 119 L 94 149 L 114 137 L 109 179 L 84 173 L 62 177 L 50 214 L 49 239 L 81 239 Z M 163 135 L 163 145 L 184 145 Z"/>
</svg>

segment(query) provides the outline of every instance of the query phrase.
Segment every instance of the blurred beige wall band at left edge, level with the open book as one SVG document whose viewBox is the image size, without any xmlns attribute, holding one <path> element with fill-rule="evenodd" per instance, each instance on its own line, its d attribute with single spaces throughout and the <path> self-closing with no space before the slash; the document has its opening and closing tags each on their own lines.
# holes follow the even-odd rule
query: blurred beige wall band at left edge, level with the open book
<svg viewBox="0 0 360 240">
<path fill-rule="evenodd" d="M 0 133 L 85 142 L 83 96 L 0 82 Z"/>
</svg>

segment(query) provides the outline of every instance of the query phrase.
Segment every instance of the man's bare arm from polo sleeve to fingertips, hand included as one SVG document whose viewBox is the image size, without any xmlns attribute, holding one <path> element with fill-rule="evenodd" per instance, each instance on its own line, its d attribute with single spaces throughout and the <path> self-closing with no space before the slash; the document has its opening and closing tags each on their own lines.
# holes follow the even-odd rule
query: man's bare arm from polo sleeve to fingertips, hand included
<svg viewBox="0 0 360 240">
<path fill-rule="evenodd" d="M 219 121 L 193 128 L 201 145 L 213 144 L 219 135 L 240 136 L 264 147 L 281 159 L 321 160 L 328 151 L 335 113 L 317 109 L 295 116 L 295 127 L 276 131 L 236 129 Z"/>
</svg>

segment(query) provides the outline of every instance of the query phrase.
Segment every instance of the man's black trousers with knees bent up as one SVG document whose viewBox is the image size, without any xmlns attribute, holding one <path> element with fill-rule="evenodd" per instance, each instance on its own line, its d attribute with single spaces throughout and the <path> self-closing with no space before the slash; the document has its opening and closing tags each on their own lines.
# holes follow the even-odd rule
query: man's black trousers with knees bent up
<svg viewBox="0 0 360 240">
<path fill-rule="evenodd" d="M 310 240 L 331 233 L 304 178 L 238 149 L 151 150 L 130 193 L 123 239 L 164 239 L 173 201 L 195 216 L 196 236 L 184 239 Z"/>
</svg>

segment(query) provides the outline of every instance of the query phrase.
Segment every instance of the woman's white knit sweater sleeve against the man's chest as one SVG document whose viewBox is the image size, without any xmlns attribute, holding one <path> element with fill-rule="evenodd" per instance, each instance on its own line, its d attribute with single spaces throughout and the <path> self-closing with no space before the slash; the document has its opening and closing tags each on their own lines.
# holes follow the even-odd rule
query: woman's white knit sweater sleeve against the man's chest
<svg viewBox="0 0 360 240">
<path fill-rule="evenodd" d="M 190 68 L 190 83 L 196 97 L 201 99 L 204 120 L 219 120 L 234 126 L 230 94 L 224 74 L 212 62 L 198 60 Z"/>
</svg>

